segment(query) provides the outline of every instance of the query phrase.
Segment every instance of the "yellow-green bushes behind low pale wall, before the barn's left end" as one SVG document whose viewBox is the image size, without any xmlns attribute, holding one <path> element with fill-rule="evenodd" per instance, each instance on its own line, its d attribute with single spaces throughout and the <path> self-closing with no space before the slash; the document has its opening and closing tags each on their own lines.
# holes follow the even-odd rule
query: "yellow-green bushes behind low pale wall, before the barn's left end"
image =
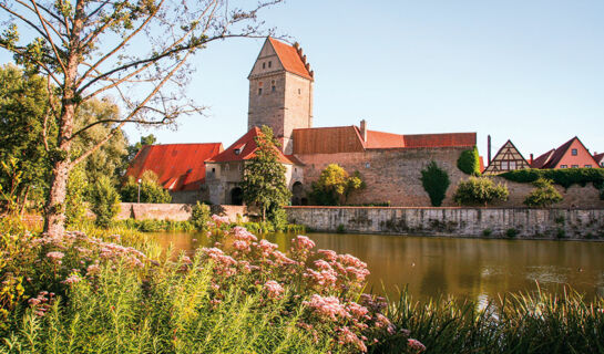
<svg viewBox="0 0 604 354">
<path fill-rule="evenodd" d="M 163 204 L 171 202 L 172 196 L 164 189 L 152 170 L 145 170 L 141 176 L 141 202 Z M 139 201 L 139 183 L 134 177 L 130 176 L 126 184 L 120 189 L 122 201 L 137 202 Z"/>
</svg>

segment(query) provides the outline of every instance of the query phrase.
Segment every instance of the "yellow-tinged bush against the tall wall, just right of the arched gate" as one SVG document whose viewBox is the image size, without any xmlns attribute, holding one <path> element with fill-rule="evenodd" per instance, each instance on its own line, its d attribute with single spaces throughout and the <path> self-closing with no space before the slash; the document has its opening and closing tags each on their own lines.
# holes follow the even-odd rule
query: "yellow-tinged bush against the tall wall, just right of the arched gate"
<svg viewBox="0 0 604 354">
<path fill-rule="evenodd" d="M 365 188 L 365 183 L 359 171 L 349 176 L 339 165 L 329 164 L 311 187 L 311 197 L 317 205 L 339 206 L 346 204 L 350 192 Z"/>
</svg>

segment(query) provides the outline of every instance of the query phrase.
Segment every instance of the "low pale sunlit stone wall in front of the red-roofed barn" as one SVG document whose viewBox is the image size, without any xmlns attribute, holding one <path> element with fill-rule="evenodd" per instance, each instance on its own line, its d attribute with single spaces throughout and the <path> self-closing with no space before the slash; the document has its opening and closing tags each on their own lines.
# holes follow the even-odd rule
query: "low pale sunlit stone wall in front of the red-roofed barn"
<svg viewBox="0 0 604 354">
<path fill-rule="evenodd" d="M 191 218 L 193 205 L 190 204 L 136 204 L 122 202 L 120 214 L 115 217 L 117 220 L 124 219 L 156 219 L 185 221 Z M 237 220 L 237 215 L 247 221 L 247 209 L 244 206 L 211 206 L 213 214 L 227 216 L 231 221 Z"/>
</svg>

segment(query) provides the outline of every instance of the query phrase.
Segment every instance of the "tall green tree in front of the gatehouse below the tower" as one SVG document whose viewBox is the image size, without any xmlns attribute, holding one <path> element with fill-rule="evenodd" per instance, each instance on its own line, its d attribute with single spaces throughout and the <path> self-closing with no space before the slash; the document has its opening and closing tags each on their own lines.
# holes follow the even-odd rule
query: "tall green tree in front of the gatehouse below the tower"
<svg viewBox="0 0 604 354">
<path fill-rule="evenodd" d="M 240 187 L 246 204 L 255 205 L 263 211 L 263 221 L 273 220 L 275 212 L 287 205 L 291 192 L 285 179 L 286 168 L 278 159 L 279 143 L 273 136 L 273 129 L 266 125 L 255 138 L 258 148 L 255 156 L 244 166 Z"/>
</svg>

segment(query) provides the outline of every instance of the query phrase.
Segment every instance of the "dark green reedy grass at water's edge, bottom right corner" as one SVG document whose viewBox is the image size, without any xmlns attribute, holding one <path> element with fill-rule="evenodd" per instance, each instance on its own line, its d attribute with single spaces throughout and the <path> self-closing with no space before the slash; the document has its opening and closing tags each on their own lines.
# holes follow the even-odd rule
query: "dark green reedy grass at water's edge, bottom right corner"
<svg viewBox="0 0 604 354">
<path fill-rule="evenodd" d="M 604 299 L 586 301 L 573 290 L 556 295 L 538 288 L 482 305 L 444 298 L 418 302 L 406 290 L 389 301 L 387 315 L 426 353 L 604 353 Z"/>
</svg>

